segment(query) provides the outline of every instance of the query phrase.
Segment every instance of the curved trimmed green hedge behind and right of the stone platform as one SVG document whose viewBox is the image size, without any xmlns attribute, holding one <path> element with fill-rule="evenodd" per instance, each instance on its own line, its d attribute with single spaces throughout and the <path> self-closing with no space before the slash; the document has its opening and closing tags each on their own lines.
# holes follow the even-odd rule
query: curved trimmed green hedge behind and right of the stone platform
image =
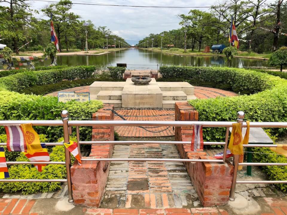
<svg viewBox="0 0 287 215">
<path fill-rule="evenodd" d="M 256 93 L 273 86 L 267 74 L 228 67 L 162 66 L 159 72 L 163 80 L 183 78 L 187 81 L 215 83 L 230 86 L 229 90 L 240 94 Z"/>
</svg>

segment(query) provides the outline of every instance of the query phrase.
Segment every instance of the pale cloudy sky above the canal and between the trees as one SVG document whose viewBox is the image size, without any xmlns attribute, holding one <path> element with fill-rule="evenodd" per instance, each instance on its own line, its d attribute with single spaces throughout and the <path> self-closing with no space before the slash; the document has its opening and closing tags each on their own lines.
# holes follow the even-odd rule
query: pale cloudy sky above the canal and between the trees
<svg viewBox="0 0 287 215">
<path fill-rule="evenodd" d="M 58 0 L 52 0 L 58 1 Z M 71 0 L 75 3 L 108 3 L 144 6 L 209 6 L 216 0 Z M 45 7 L 48 2 L 31 1 L 35 9 Z M 95 26 L 107 26 L 114 34 L 123 37 L 129 44 L 137 44 L 150 33 L 180 28 L 176 15 L 187 14 L 190 8 L 141 8 L 74 4 L 72 12 L 82 19 L 90 19 Z M 36 17 L 43 17 L 40 14 Z M 48 17 L 46 17 L 48 18 Z"/>
</svg>

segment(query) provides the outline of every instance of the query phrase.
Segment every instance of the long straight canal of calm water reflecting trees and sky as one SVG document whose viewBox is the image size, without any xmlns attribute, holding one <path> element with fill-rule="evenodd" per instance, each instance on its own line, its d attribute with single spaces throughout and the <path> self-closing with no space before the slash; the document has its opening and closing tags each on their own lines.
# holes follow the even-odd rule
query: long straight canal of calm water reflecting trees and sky
<svg viewBox="0 0 287 215">
<path fill-rule="evenodd" d="M 48 65 L 50 60 L 35 61 L 36 66 Z M 186 66 L 227 66 L 223 56 L 178 56 L 157 51 L 129 48 L 103 55 L 90 56 L 57 56 L 58 65 L 97 65 L 100 67 L 116 66 L 117 63 L 126 63 L 127 69 L 144 70 L 158 69 L 161 65 Z M 268 66 L 267 61 L 233 58 L 232 67 L 261 67 Z"/>
</svg>

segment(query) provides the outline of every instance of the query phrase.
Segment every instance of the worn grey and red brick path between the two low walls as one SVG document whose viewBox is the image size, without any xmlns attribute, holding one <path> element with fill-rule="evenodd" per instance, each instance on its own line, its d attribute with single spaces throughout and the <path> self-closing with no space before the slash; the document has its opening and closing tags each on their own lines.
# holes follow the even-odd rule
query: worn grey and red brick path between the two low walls
<svg viewBox="0 0 287 215">
<path fill-rule="evenodd" d="M 180 158 L 175 145 L 115 145 L 113 158 Z M 112 162 L 101 208 L 198 205 L 182 162 Z"/>
</svg>

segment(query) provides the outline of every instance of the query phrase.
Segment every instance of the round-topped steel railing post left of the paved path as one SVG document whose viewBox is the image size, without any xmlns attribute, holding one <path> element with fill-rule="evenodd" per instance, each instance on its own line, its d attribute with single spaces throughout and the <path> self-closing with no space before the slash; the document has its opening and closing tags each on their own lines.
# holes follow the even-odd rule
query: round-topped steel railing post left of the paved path
<svg viewBox="0 0 287 215">
<path fill-rule="evenodd" d="M 62 121 L 63 121 L 63 133 L 64 133 L 64 142 L 70 143 L 69 136 L 69 127 L 68 127 L 68 116 L 69 113 L 67 110 L 63 110 L 61 112 Z M 66 162 L 66 170 L 67 170 L 67 183 L 68 183 L 68 202 L 74 202 L 73 193 L 72 193 L 72 180 L 71 180 L 71 157 L 70 152 L 65 147 L 65 162 Z"/>
</svg>

